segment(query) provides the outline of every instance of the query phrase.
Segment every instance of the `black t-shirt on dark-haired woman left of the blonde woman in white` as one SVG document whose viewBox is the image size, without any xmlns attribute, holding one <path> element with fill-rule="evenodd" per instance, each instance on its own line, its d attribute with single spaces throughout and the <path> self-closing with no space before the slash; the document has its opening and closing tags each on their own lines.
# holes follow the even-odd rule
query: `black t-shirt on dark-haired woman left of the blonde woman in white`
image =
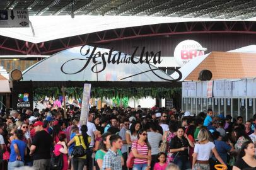
<svg viewBox="0 0 256 170">
<path fill-rule="evenodd" d="M 175 136 L 171 142 L 170 142 L 170 149 L 179 149 L 181 147 L 189 147 L 189 141 L 185 139 L 185 137 L 182 137 L 182 139 L 179 139 L 177 136 Z M 189 156 L 189 152 L 187 149 L 176 152 L 175 154 L 178 154 L 178 156 Z"/>
</svg>

